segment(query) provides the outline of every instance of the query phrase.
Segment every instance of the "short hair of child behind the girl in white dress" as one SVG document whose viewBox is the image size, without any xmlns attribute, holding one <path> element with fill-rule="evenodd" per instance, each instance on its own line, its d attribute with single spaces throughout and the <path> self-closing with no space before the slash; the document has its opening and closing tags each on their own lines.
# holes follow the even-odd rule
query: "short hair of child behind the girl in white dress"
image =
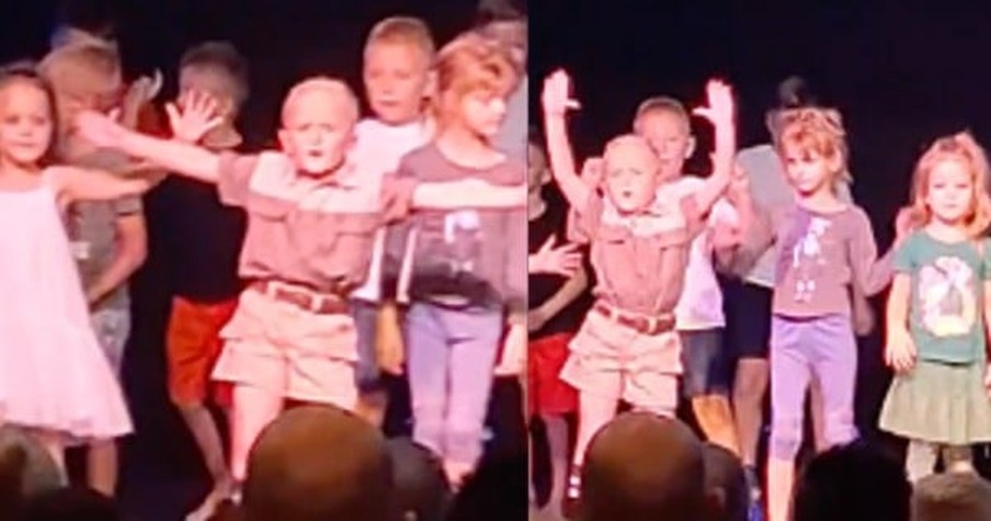
<svg viewBox="0 0 991 521">
<path fill-rule="evenodd" d="M 38 73 L 57 92 L 117 92 L 123 87 L 117 46 L 98 39 L 57 47 L 38 64 Z"/>
</svg>

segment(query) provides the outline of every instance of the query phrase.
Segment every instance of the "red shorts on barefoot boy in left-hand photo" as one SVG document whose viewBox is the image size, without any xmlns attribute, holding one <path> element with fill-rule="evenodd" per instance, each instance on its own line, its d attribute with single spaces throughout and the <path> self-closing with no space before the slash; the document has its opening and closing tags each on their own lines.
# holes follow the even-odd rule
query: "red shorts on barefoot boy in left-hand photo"
<svg viewBox="0 0 991 521">
<path fill-rule="evenodd" d="M 230 320 L 238 301 L 201 304 L 182 297 L 172 299 L 172 316 L 166 337 L 169 363 L 169 396 L 176 405 L 204 403 L 210 390 L 210 372 L 220 354 L 220 330 Z M 228 393 L 218 386 L 215 398 L 229 405 Z"/>
</svg>

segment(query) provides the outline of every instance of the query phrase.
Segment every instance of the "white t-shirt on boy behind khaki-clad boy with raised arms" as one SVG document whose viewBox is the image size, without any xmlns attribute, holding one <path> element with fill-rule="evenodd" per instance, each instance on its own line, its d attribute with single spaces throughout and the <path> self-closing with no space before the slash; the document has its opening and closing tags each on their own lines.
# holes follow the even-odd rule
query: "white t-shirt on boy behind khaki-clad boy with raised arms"
<svg viewBox="0 0 991 521">
<path fill-rule="evenodd" d="M 685 175 L 674 181 L 674 184 L 684 196 L 698 191 L 705 181 L 694 175 Z M 717 201 L 713 211 L 709 212 L 707 228 L 711 229 L 717 223 L 728 226 L 739 225 L 737 208 L 725 199 Z M 695 238 L 688 251 L 684 287 L 677 306 L 674 308 L 674 317 L 680 331 L 716 329 L 726 326 L 726 317 L 722 314 L 722 290 L 719 287 L 716 270 L 713 268 L 713 249 L 706 231 Z"/>
</svg>

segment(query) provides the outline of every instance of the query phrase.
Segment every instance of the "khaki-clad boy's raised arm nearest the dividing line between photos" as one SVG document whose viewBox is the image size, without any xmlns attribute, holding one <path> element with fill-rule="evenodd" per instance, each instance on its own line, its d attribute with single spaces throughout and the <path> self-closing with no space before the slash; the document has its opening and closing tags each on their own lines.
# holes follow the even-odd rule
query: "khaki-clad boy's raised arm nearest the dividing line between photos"
<svg viewBox="0 0 991 521">
<path fill-rule="evenodd" d="M 571 79 L 563 70 L 554 72 L 544 82 L 544 127 L 554 179 L 568 203 L 580 209 L 585 207 L 593 190 L 578 175 L 571 141 L 568 139 L 567 112 L 578 106 L 569 98 L 570 89 Z"/>
</svg>

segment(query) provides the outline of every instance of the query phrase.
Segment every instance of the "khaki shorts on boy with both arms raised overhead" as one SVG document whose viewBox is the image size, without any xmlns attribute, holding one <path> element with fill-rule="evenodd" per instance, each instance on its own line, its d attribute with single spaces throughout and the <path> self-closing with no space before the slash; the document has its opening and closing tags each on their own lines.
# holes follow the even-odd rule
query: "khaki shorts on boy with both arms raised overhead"
<svg viewBox="0 0 991 521">
<path fill-rule="evenodd" d="M 571 340 L 561 380 L 582 393 L 673 415 L 682 372 L 677 332 L 643 335 L 590 312 Z"/>
</svg>

